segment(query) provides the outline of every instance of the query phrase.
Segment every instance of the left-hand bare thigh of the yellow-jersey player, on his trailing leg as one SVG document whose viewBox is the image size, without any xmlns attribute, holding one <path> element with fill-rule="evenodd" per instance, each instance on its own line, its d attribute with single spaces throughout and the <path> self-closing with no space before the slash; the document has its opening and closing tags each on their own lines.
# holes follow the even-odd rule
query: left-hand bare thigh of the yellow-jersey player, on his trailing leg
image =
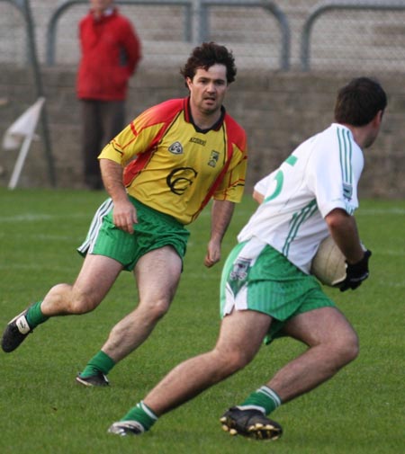
<svg viewBox="0 0 405 454">
<path fill-rule="evenodd" d="M 104 255 L 87 254 L 73 285 L 74 294 L 84 303 L 98 306 L 122 270 L 121 263 Z"/>
</svg>

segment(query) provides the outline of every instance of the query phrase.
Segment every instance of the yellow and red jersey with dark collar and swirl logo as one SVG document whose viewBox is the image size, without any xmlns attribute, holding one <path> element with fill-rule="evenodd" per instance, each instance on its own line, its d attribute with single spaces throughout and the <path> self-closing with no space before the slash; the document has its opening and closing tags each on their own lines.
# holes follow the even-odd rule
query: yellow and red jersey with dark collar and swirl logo
<svg viewBox="0 0 405 454">
<path fill-rule="evenodd" d="M 189 224 L 212 197 L 241 200 L 247 138 L 224 109 L 217 124 L 202 131 L 193 124 L 188 98 L 173 99 L 141 113 L 99 158 L 125 167 L 132 197 Z"/>
</svg>

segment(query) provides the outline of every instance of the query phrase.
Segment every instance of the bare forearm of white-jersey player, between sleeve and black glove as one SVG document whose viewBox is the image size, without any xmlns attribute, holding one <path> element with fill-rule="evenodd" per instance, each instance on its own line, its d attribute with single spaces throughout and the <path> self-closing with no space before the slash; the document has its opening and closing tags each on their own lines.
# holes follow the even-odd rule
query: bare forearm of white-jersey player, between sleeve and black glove
<svg viewBox="0 0 405 454">
<path fill-rule="evenodd" d="M 356 219 L 344 209 L 332 209 L 325 218 L 330 235 L 347 258 L 347 263 L 362 260 L 365 251 L 358 236 Z"/>
</svg>

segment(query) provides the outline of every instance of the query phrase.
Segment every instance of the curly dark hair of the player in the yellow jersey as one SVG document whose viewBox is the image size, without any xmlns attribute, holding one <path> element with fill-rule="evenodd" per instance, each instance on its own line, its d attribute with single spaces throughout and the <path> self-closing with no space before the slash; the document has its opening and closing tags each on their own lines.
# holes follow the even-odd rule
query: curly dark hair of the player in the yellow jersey
<svg viewBox="0 0 405 454">
<path fill-rule="evenodd" d="M 227 68 L 228 84 L 235 80 L 237 68 L 232 52 L 215 42 L 203 42 L 201 46 L 194 48 L 184 67 L 180 70 L 180 74 L 184 76 L 184 79 L 186 77 L 193 79 L 198 68 L 202 67 L 207 70 L 216 64 L 224 65 Z"/>
</svg>

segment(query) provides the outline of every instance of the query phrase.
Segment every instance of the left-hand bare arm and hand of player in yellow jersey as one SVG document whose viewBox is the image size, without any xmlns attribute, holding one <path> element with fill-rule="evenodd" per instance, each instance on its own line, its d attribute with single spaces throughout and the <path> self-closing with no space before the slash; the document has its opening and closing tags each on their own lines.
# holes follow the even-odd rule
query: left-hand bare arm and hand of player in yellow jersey
<svg viewBox="0 0 405 454">
<path fill-rule="evenodd" d="M 122 167 L 110 159 L 100 159 L 100 168 L 105 190 L 110 194 L 114 202 L 114 224 L 116 227 L 132 234 L 133 224 L 138 222 L 137 212 L 130 203 L 127 191 L 122 183 Z"/>
</svg>

